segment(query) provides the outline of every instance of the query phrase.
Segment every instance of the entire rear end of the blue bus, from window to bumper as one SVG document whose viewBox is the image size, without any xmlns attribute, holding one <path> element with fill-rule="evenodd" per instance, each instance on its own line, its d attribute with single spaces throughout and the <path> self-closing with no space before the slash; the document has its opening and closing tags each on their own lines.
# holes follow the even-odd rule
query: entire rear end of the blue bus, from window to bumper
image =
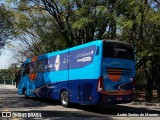
<svg viewBox="0 0 160 120">
<path fill-rule="evenodd" d="M 127 103 L 134 97 L 133 48 L 122 42 L 104 41 L 102 58 L 103 103 Z"/>
</svg>

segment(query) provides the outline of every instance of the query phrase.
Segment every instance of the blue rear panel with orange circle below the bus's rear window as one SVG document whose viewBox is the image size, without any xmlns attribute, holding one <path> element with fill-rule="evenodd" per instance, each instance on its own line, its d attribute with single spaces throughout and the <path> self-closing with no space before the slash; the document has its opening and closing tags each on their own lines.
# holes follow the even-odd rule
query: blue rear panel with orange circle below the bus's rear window
<svg viewBox="0 0 160 120">
<path fill-rule="evenodd" d="M 118 90 L 119 89 L 118 87 L 120 87 L 121 84 L 132 83 L 135 76 L 134 66 L 135 66 L 134 61 L 104 58 L 103 59 L 104 89 L 106 91 Z M 113 72 L 114 76 L 111 74 Z"/>
</svg>

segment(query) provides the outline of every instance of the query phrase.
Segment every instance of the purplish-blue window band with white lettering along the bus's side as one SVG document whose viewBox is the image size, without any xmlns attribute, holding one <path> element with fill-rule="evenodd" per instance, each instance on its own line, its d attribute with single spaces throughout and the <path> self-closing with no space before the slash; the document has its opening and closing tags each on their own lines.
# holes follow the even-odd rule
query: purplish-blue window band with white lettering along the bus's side
<svg viewBox="0 0 160 120">
<path fill-rule="evenodd" d="M 75 68 L 82 68 L 94 60 L 96 46 L 89 46 L 78 50 L 62 53 L 30 63 L 30 68 L 36 72 L 52 72 Z M 68 65 L 69 64 L 69 65 Z"/>
</svg>

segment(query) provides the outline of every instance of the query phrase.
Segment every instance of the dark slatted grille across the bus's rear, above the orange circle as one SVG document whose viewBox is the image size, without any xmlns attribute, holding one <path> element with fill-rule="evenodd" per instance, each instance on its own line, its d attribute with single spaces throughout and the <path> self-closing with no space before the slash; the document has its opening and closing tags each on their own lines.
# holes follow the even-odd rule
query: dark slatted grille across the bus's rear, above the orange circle
<svg viewBox="0 0 160 120">
<path fill-rule="evenodd" d="M 131 75 L 132 69 L 129 68 L 107 68 L 107 74 L 113 75 Z"/>
</svg>

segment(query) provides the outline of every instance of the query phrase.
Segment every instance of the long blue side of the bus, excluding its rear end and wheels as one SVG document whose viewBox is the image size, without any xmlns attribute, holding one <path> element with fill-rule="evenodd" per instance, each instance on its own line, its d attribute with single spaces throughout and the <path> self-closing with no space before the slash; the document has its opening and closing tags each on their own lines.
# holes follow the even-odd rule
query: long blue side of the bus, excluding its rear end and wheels
<svg viewBox="0 0 160 120">
<path fill-rule="evenodd" d="M 36 73 L 35 80 L 29 80 L 28 77 L 28 83 L 30 83 L 29 87 L 26 87 L 27 91 L 29 91 L 28 95 L 59 99 L 61 90 L 67 90 L 70 94 L 71 102 L 82 104 L 93 103 L 92 99 L 97 87 L 97 78 L 95 79 L 94 73 L 94 56 L 97 49 L 96 45 L 100 43 L 100 41 L 96 41 L 92 44 L 85 44 L 68 50 L 39 56 L 37 64 L 40 66 L 43 63 L 44 68 L 43 70 L 37 69 L 38 72 Z M 32 63 L 32 59 L 28 59 L 25 63 L 28 62 Z M 31 63 L 31 66 L 36 66 L 34 63 Z M 56 63 L 59 66 L 56 66 Z M 90 72 L 87 73 L 87 71 Z M 68 79 L 70 80 L 69 82 Z M 27 83 L 27 80 L 23 83 Z M 19 89 L 22 91 L 21 87 Z M 88 89 L 90 90 L 86 97 L 84 94 Z M 78 98 L 80 93 L 80 97 L 83 98 L 81 101 Z"/>
</svg>

